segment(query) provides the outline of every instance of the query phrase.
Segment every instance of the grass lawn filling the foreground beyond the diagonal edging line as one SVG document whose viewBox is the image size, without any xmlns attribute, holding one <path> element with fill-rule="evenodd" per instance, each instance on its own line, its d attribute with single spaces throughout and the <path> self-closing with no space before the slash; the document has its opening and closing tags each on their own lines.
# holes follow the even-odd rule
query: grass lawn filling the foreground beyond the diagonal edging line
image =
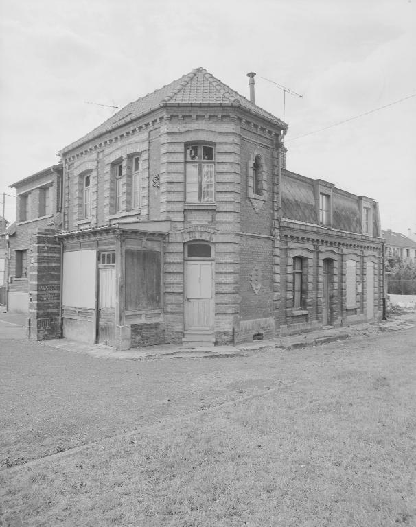
<svg viewBox="0 0 416 527">
<path fill-rule="evenodd" d="M 415 525 L 413 346 L 336 346 L 297 371 L 277 351 L 292 380 L 255 396 L 3 471 L 5 526 Z"/>
</svg>

